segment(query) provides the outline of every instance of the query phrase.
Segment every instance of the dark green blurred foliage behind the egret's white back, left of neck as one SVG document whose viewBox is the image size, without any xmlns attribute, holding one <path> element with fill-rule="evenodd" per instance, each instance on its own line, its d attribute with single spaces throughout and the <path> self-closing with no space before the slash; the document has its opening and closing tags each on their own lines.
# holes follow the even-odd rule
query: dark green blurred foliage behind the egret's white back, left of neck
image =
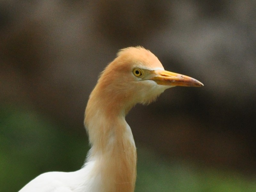
<svg viewBox="0 0 256 192">
<path fill-rule="evenodd" d="M 33 110 L 1 107 L 0 192 L 18 191 L 43 172 L 83 165 L 89 149 L 85 134 L 79 137 L 61 128 Z"/>
</svg>

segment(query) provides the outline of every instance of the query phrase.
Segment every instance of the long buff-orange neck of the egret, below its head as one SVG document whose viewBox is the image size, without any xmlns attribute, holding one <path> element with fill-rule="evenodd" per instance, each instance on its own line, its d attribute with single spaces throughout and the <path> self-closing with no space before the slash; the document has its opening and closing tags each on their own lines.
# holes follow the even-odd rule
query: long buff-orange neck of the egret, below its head
<svg viewBox="0 0 256 192">
<path fill-rule="evenodd" d="M 85 110 L 85 126 L 92 145 L 87 162 L 94 161 L 94 173 L 103 192 L 133 192 L 136 180 L 136 148 L 125 114 L 114 105 L 102 105 L 90 96 Z"/>
</svg>

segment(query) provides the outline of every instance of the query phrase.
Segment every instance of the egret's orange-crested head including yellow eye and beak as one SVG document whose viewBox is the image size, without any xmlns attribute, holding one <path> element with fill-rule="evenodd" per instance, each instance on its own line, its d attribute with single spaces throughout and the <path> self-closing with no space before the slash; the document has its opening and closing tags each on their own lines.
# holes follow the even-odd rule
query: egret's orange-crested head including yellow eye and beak
<svg viewBox="0 0 256 192">
<path fill-rule="evenodd" d="M 117 57 L 101 73 L 93 92 L 109 107 L 123 108 L 126 112 L 137 103 L 148 104 L 164 90 L 174 86 L 203 84 L 196 79 L 164 70 L 157 57 L 143 47 L 120 50 Z"/>
</svg>

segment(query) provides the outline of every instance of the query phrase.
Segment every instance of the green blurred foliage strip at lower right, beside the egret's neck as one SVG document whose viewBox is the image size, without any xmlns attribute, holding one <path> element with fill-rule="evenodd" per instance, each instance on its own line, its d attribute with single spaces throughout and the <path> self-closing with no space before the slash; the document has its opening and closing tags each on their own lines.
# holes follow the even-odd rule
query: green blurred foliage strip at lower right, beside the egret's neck
<svg viewBox="0 0 256 192">
<path fill-rule="evenodd" d="M 203 168 L 189 162 L 167 160 L 138 149 L 136 192 L 253 192 L 256 181 L 236 172 Z"/>
</svg>

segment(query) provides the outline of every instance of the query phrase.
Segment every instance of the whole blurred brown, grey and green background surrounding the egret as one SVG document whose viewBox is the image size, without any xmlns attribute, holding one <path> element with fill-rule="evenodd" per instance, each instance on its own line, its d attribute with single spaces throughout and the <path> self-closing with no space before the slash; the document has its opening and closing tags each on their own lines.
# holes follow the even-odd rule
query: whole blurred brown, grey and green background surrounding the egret
<svg viewBox="0 0 256 192">
<path fill-rule="evenodd" d="M 204 87 L 128 114 L 135 191 L 256 191 L 255 18 L 253 0 L 0 1 L 0 191 L 80 169 L 88 96 L 137 45 Z"/>
</svg>

